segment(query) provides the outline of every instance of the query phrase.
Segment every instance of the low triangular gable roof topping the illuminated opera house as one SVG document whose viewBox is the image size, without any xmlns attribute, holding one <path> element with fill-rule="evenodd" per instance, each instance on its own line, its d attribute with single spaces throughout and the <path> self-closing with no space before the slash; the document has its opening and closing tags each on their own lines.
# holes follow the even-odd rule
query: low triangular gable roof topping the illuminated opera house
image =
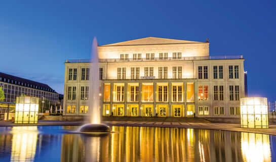
<svg viewBox="0 0 276 162">
<path fill-rule="evenodd" d="M 207 44 L 207 43 L 206 42 L 183 41 L 183 40 L 178 40 L 178 39 L 168 39 L 168 38 L 160 38 L 160 37 L 145 37 L 145 38 L 140 38 L 140 39 L 134 39 L 131 41 L 103 45 L 100 47 L 141 46 L 141 45 L 174 45 L 174 44 Z"/>
</svg>

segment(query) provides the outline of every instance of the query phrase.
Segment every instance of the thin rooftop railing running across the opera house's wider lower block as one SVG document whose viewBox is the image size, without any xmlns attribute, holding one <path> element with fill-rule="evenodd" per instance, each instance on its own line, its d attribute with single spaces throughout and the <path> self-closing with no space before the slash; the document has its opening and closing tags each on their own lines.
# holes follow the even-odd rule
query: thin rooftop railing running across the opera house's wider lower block
<svg viewBox="0 0 276 162">
<path fill-rule="evenodd" d="M 167 58 L 124 58 L 124 59 L 99 59 L 99 62 L 129 62 L 129 61 L 183 61 L 183 60 L 227 60 L 243 59 L 243 55 L 233 56 L 200 56 L 200 57 L 167 57 Z M 87 63 L 91 59 L 66 60 L 66 63 Z"/>
</svg>

